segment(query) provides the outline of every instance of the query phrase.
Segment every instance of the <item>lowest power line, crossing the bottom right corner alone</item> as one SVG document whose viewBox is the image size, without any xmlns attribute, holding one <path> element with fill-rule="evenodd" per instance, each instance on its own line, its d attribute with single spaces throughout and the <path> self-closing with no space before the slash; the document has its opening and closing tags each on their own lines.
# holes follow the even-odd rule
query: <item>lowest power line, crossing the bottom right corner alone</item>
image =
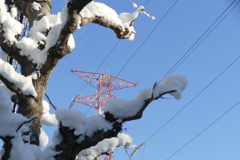
<svg viewBox="0 0 240 160">
<path fill-rule="evenodd" d="M 189 143 L 194 141 L 197 137 L 199 137 L 202 133 L 204 133 L 208 128 L 210 128 L 212 125 L 214 125 L 217 121 L 219 121 L 223 116 L 225 116 L 227 113 L 229 113 L 232 109 L 234 109 L 237 105 L 240 104 L 240 101 L 238 101 L 236 104 L 234 104 L 232 107 L 230 107 L 227 111 L 225 111 L 222 115 L 220 115 L 217 119 L 215 119 L 212 123 L 210 123 L 206 128 L 204 128 L 201 132 L 199 132 L 196 136 L 194 136 L 192 139 L 190 139 L 187 143 L 185 143 L 182 147 L 180 147 L 176 152 L 171 154 L 166 160 L 169 160 L 174 155 L 176 155 L 179 151 L 181 151 L 183 148 L 185 148 Z"/>
</svg>

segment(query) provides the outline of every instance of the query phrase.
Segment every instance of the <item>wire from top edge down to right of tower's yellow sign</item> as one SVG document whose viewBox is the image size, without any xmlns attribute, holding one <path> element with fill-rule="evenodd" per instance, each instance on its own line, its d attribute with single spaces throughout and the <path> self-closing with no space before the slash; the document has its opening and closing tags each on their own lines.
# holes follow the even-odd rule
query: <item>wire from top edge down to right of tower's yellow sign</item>
<svg viewBox="0 0 240 160">
<path fill-rule="evenodd" d="M 178 0 L 176 0 L 171 7 L 168 9 L 168 11 L 164 14 L 164 16 L 160 19 L 160 21 L 157 23 L 157 25 L 152 29 L 152 31 L 148 34 L 148 36 L 143 40 L 143 42 L 140 44 L 140 46 L 137 48 L 137 50 L 132 54 L 132 56 L 127 60 L 127 62 L 123 65 L 123 67 L 120 69 L 120 71 L 117 73 L 116 77 L 123 71 L 123 69 L 127 66 L 127 64 L 131 61 L 131 59 L 136 55 L 136 53 L 139 51 L 139 49 L 143 46 L 143 44 L 148 40 L 148 38 L 152 35 L 152 33 L 155 31 L 155 29 L 159 26 L 159 24 L 163 21 L 163 19 L 168 15 L 168 13 L 172 10 L 172 8 L 175 6 Z"/>
</svg>

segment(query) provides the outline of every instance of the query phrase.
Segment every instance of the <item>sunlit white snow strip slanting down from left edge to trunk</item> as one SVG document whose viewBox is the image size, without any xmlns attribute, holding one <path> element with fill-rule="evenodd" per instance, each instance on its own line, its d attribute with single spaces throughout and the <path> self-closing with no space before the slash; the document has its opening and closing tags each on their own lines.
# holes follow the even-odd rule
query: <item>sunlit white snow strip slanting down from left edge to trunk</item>
<svg viewBox="0 0 240 160">
<path fill-rule="evenodd" d="M 25 77 L 17 73 L 9 63 L 4 62 L 2 59 L 0 59 L 0 74 L 15 84 L 25 95 L 37 97 L 37 92 L 32 84 L 32 77 Z"/>
</svg>

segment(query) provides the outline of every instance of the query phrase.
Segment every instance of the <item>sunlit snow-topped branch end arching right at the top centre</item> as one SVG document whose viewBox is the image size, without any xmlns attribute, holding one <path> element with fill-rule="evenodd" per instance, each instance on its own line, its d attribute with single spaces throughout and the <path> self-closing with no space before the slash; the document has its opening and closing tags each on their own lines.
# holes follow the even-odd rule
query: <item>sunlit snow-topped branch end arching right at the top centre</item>
<svg viewBox="0 0 240 160">
<path fill-rule="evenodd" d="M 92 1 L 80 12 L 80 25 L 97 23 L 112 29 L 119 39 L 133 40 L 136 34 L 133 22 L 141 13 L 146 13 L 143 6 L 138 7 L 133 13 L 118 15 L 107 5 Z"/>
</svg>

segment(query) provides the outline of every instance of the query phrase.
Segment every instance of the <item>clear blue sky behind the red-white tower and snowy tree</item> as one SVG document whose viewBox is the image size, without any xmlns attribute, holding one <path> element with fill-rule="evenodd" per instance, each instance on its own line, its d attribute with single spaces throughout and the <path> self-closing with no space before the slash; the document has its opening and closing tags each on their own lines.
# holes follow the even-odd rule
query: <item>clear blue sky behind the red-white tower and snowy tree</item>
<svg viewBox="0 0 240 160">
<path fill-rule="evenodd" d="M 118 13 L 134 11 L 128 0 L 100 2 Z M 237 59 L 240 55 L 240 3 L 227 15 L 239 0 L 218 21 L 218 17 L 232 3 L 231 0 L 133 2 L 138 5 L 148 2 L 146 12 L 156 19 L 140 15 L 134 23 L 137 34 L 133 41 L 119 41 L 110 29 L 96 24 L 81 27 L 74 34 L 76 48 L 54 69 L 46 93 L 55 105 L 68 107 L 71 99 L 85 86 L 84 81 L 70 73 L 71 69 L 117 75 L 139 83 L 135 88 L 113 93 L 123 99 L 132 99 L 140 89 L 152 87 L 166 74 L 182 74 L 188 78 L 189 85 L 181 100 L 166 95 L 166 99 L 154 101 L 141 120 L 124 125 L 127 130 L 124 132 L 130 134 L 134 143 L 139 145 L 184 108 L 152 136 L 132 160 L 239 160 L 240 104 L 217 120 L 240 101 L 240 60 Z M 65 1 L 52 3 L 53 13 L 56 13 L 61 11 Z M 179 67 L 171 70 L 184 55 L 189 56 Z M 94 88 L 87 86 L 81 95 L 93 93 Z M 77 103 L 73 108 L 83 113 L 89 110 L 89 107 Z M 87 116 L 94 112 L 91 109 Z M 214 121 L 216 123 L 182 148 Z M 51 128 L 46 129 L 49 134 L 52 132 Z M 116 149 L 113 156 L 115 160 L 128 159 L 123 148 Z"/>
</svg>

